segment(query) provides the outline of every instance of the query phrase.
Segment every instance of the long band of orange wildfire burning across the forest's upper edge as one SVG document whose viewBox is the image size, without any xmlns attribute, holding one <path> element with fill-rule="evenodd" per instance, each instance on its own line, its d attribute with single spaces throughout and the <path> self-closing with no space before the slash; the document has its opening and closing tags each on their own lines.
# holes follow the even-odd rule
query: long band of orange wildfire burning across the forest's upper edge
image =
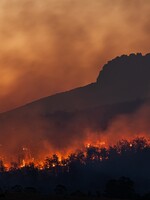
<svg viewBox="0 0 150 200">
<path fill-rule="evenodd" d="M 27 166 L 34 166 L 38 168 L 38 170 L 43 170 L 45 168 L 53 169 L 57 166 L 67 168 L 70 162 L 76 160 L 79 160 L 83 164 L 86 163 L 87 160 L 99 160 L 101 162 L 103 160 L 108 160 L 112 148 L 114 148 L 118 155 L 121 155 L 123 151 L 130 151 L 130 149 L 137 151 L 138 149 L 147 147 L 150 147 L 150 140 L 145 139 L 145 137 L 128 140 L 123 139 L 112 146 L 108 145 L 104 140 L 96 141 L 94 144 L 88 141 L 80 150 L 69 149 L 65 156 L 61 152 L 54 152 L 54 154 L 48 153 L 48 156 L 43 157 L 43 160 L 34 158 L 30 149 L 23 147 L 17 155 L 18 161 L 10 160 L 9 162 L 5 162 L 4 156 L 0 155 L 0 169 L 2 171 L 4 168 L 8 171 L 12 169 L 21 169 Z"/>
</svg>

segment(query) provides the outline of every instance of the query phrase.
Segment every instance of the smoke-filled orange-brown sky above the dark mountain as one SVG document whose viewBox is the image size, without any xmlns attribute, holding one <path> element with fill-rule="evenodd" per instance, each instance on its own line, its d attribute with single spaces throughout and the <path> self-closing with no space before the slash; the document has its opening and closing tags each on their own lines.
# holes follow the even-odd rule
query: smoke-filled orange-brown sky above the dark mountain
<svg viewBox="0 0 150 200">
<path fill-rule="evenodd" d="M 149 0 L 1 0 L 0 112 L 94 82 L 149 35 Z"/>
</svg>

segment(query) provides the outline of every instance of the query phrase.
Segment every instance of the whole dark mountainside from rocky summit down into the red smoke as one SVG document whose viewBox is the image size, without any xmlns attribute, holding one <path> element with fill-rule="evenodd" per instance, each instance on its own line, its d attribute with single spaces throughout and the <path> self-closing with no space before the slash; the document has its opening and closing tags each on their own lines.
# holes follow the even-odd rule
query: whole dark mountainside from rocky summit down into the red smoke
<svg viewBox="0 0 150 200">
<path fill-rule="evenodd" d="M 87 130 L 105 131 L 117 116 L 132 115 L 149 102 L 149 75 L 150 54 L 122 55 L 104 65 L 95 83 L 1 113 L 5 153 L 29 146 L 38 155 L 47 146 L 59 151 L 82 145 Z"/>
</svg>

